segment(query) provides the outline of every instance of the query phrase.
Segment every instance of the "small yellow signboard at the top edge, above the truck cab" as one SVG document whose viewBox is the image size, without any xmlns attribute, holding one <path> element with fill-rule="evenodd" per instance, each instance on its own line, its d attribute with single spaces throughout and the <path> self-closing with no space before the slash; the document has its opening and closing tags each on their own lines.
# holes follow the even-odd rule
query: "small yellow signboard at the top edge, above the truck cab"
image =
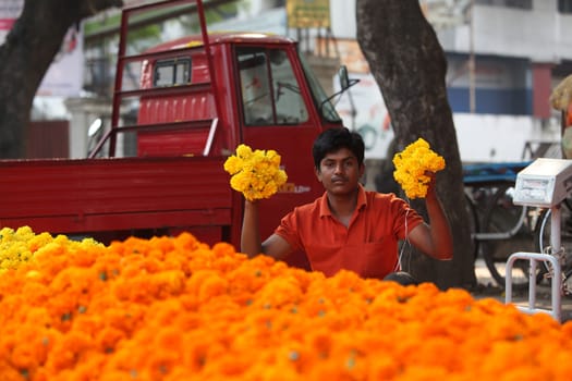
<svg viewBox="0 0 572 381">
<path fill-rule="evenodd" d="M 287 11 L 291 28 L 330 27 L 330 0 L 288 0 Z"/>
</svg>

